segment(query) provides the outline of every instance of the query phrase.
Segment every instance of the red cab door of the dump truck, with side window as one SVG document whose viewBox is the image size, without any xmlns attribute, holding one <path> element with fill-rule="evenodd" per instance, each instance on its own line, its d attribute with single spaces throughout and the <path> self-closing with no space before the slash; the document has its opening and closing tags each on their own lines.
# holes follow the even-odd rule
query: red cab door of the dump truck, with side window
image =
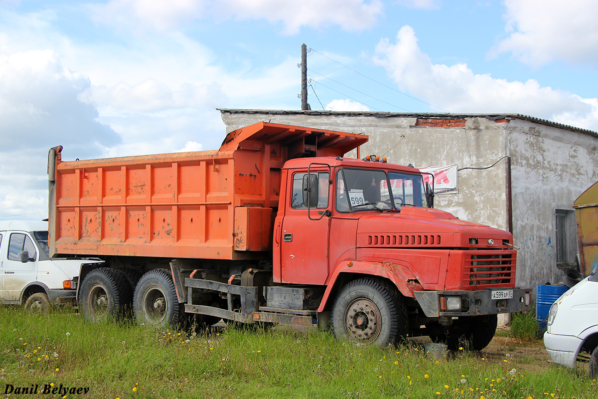
<svg viewBox="0 0 598 399">
<path fill-rule="evenodd" d="M 310 174 L 318 179 L 318 203 L 310 209 L 303 196 L 307 172 L 294 172 L 288 179 L 291 195 L 280 232 L 280 276 L 288 284 L 324 285 L 328 278 L 330 173 Z"/>
</svg>

